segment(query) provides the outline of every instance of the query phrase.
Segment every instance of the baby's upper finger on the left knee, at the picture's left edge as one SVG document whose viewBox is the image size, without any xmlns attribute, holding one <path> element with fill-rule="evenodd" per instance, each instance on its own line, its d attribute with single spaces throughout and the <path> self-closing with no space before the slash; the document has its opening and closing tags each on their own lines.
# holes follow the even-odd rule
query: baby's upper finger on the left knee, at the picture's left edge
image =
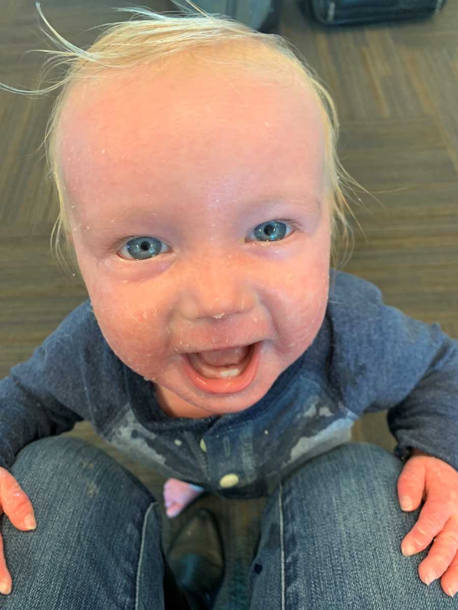
<svg viewBox="0 0 458 610">
<path fill-rule="evenodd" d="M 0 468 L 0 503 L 5 515 L 17 529 L 35 529 L 34 508 L 13 475 Z"/>
</svg>

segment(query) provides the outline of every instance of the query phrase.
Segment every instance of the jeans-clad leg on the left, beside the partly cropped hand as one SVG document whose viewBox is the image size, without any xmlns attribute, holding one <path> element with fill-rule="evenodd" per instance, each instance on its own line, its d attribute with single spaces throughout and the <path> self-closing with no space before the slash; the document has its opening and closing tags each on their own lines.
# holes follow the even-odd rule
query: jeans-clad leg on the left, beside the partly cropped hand
<svg viewBox="0 0 458 610">
<path fill-rule="evenodd" d="M 11 473 L 31 499 L 37 529 L 23 532 L 0 517 L 13 581 L 0 594 L 2 610 L 164 609 L 158 504 L 135 476 L 69 436 L 27 445 Z"/>
</svg>

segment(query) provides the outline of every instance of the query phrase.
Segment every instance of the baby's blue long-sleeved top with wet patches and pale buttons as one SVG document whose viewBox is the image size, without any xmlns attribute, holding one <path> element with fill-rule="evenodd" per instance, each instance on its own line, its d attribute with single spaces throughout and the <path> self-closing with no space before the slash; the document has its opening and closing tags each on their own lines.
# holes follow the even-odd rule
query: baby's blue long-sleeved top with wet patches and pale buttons
<svg viewBox="0 0 458 610">
<path fill-rule="evenodd" d="M 417 447 L 458 470 L 458 341 L 383 304 L 370 282 L 330 270 L 310 347 L 245 411 L 170 418 L 151 381 L 106 343 L 89 299 L 0 381 L 0 465 L 33 440 L 89 420 L 129 458 L 226 498 L 272 493 L 304 462 L 388 410 L 402 460 Z"/>
</svg>

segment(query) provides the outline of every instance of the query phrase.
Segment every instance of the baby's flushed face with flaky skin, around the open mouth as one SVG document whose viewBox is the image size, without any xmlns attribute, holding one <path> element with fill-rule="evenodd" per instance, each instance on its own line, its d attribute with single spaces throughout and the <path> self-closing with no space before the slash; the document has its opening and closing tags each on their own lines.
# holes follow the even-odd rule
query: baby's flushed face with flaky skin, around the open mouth
<svg viewBox="0 0 458 610">
<path fill-rule="evenodd" d="M 187 66 L 89 83 L 61 123 L 72 237 L 98 324 L 180 417 L 260 400 L 313 342 L 329 289 L 318 104 L 297 79 L 277 87 L 221 70 L 211 82 Z M 258 342 L 242 390 L 209 392 L 185 373 L 183 353 Z"/>
</svg>

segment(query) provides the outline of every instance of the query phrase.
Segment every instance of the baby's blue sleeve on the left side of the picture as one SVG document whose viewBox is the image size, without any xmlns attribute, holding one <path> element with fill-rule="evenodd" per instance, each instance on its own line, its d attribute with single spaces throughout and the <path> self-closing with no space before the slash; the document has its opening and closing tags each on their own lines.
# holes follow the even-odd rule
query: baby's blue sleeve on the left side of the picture
<svg viewBox="0 0 458 610">
<path fill-rule="evenodd" d="M 4 468 L 10 468 L 19 451 L 32 441 L 67 432 L 87 418 L 75 370 L 78 342 L 71 340 L 71 333 L 78 332 L 75 320 L 81 307 L 27 361 L 12 367 L 10 375 L 0 380 L 0 466 Z M 81 394 L 81 400 L 75 401 L 79 412 L 62 401 L 70 392 Z"/>
</svg>

